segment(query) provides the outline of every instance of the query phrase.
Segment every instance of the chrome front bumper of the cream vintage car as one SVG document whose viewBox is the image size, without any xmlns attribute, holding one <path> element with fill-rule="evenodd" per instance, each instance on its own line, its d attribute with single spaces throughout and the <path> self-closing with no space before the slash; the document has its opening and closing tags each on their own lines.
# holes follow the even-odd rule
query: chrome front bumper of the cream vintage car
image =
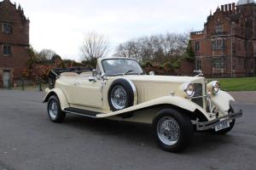
<svg viewBox="0 0 256 170">
<path fill-rule="evenodd" d="M 240 110 L 240 111 L 237 111 L 235 113 L 231 113 L 227 116 L 222 116 L 222 117 L 216 118 L 216 119 L 214 119 L 212 121 L 209 121 L 209 122 L 199 122 L 199 119 L 197 119 L 196 121 L 193 122 L 193 124 L 195 124 L 197 131 L 205 131 L 207 129 L 215 127 L 216 125 L 218 125 L 221 122 L 232 121 L 232 120 L 234 120 L 236 118 L 239 118 L 241 116 L 242 116 L 242 111 Z"/>
</svg>

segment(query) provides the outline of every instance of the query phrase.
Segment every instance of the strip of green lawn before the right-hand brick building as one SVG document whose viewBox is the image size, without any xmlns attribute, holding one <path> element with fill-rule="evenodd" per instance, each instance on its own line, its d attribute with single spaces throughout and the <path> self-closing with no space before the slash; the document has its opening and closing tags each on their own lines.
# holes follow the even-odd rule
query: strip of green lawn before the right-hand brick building
<svg viewBox="0 0 256 170">
<path fill-rule="evenodd" d="M 256 91 L 256 77 L 217 78 L 224 91 Z M 208 82 L 211 82 L 209 79 Z"/>
</svg>

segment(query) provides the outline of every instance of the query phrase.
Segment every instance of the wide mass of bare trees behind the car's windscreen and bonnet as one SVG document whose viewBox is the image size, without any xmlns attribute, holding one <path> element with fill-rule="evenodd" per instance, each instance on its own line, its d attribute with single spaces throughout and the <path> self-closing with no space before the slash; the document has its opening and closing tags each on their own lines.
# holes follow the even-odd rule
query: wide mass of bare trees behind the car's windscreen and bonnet
<svg viewBox="0 0 256 170">
<path fill-rule="evenodd" d="M 140 37 L 119 44 L 115 56 L 130 57 L 139 62 L 154 61 L 165 63 L 182 57 L 188 46 L 187 34 L 166 33 Z"/>
</svg>

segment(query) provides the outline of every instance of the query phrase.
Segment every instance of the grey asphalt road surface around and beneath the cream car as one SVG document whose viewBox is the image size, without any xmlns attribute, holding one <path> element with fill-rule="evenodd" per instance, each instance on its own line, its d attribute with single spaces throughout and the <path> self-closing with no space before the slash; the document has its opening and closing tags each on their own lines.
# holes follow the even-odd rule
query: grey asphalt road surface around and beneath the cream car
<svg viewBox="0 0 256 170">
<path fill-rule="evenodd" d="M 256 105 L 225 136 L 196 133 L 182 154 L 160 150 L 148 125 L 67 116 L 49 122 L 43 94 L 0 90 L 0 170 L 256 169 Z"/>
</svg>

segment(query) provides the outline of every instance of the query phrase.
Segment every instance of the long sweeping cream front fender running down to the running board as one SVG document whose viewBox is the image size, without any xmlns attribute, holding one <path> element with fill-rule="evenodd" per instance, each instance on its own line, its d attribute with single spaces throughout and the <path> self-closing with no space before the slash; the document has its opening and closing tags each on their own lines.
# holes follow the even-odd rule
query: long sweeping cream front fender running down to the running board
<svg viewBox="0 0 256 170">
<path fill-rule="evenodd" d="M 102 113 L 98 114 L 96 117 L 98 118 L 103 118 L 103 117 L 109 117 L 109 116 L 117 116 L 126 112 L 131 112 L 131 111 L 137 111 L 137 110 L 142 110 L 154 105 L 175 105 L 179 108 L 182 108 L 183 110 L 194 112 L 196 109 L 201 111 L 202 113 L 205 113 L 205 111 L 199 106 L 196 105 L 194 102 L 192 102 L 189 99 L 184 99 L 182 97 L 178 96 L 164 96 L 158 99 L 152 99 L 147 102 L 144 102 L 142 104 L 138 105 L 133 105 L 129 108 L 126 108 L 121 111 L 114 111 L 111 113 Z"/>
</svg>

